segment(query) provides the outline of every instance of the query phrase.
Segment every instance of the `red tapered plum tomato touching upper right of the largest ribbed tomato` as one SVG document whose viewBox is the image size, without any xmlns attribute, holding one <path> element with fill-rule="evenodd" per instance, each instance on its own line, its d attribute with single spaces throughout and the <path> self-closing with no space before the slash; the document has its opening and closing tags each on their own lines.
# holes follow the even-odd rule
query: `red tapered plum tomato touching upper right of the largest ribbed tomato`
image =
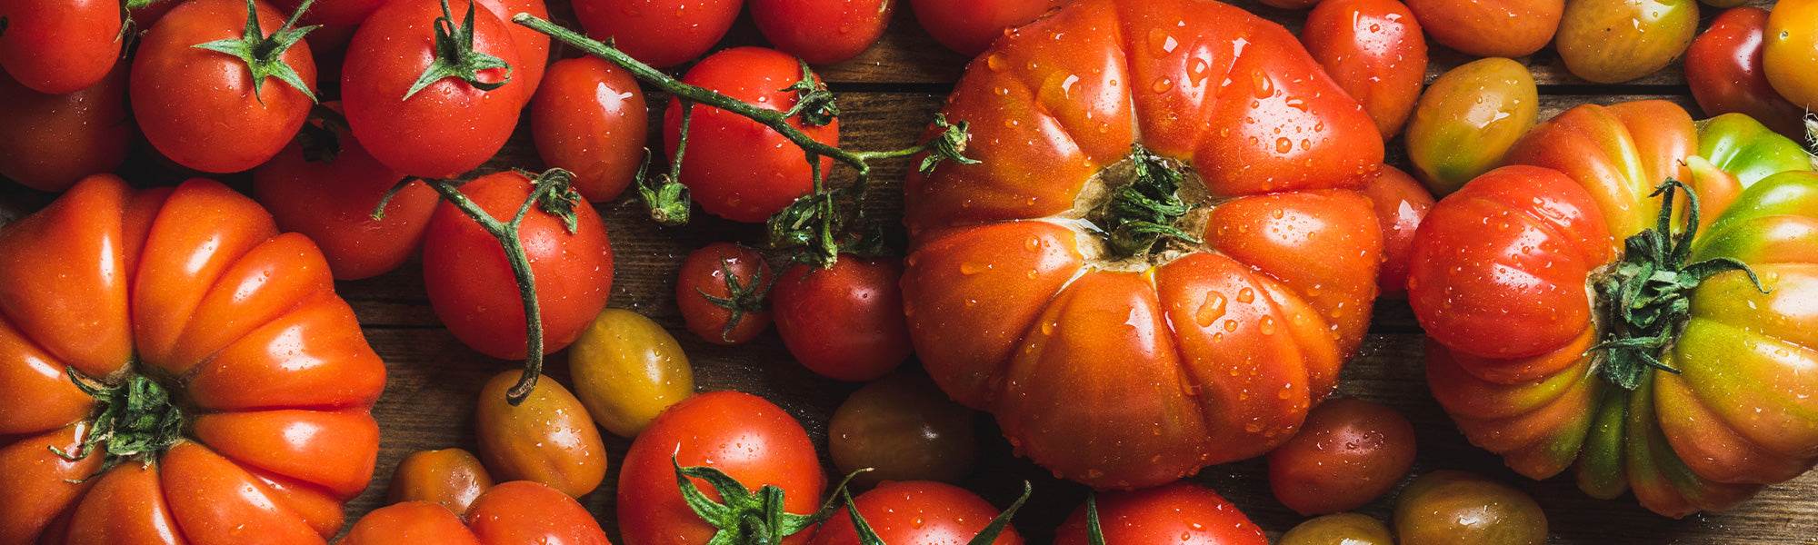
<svg viewBox="0 0 1818 545">
<path fill-rule="evenodd" d="M 1394 138 L 1427 80 L 1427 40 L 1396 0 L 1320 2 L 1300 31 L 1307 53 Z"/>
</svg>

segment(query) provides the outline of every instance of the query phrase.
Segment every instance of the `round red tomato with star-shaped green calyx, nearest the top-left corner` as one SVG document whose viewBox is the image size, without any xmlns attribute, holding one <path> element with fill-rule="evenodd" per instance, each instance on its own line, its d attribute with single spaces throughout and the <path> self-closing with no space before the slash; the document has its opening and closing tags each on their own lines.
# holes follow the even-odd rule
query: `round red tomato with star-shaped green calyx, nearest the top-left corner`
<svg viewBox="0 0 1818 545">
<path fill-rule="evenodd" d="M 133 56 L 133 116 L 145 140 L 205 173 L 240 173 L 278 154 L 316 98 L 316 62 L 309 44 L 295 42 L 293 24 L 256 0 L 196 0 L 165 13 Z"/>
</svg>

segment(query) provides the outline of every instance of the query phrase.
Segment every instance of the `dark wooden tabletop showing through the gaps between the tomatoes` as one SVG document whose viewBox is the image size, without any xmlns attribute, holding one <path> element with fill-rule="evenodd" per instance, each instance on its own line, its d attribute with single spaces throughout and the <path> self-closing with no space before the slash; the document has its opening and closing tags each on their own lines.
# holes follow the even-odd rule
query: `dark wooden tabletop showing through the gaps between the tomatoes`
<svg viewBox="0 0 1818 545">
<path fill-rule="evenodd" d="M 916 134 L 965 67 L 967 58 L 934 44 L 916 25 L 907 4 L 898 2 L 902 5 L 898 5 L 894 20 L 876 45 L 851 62 L 820 69 L 840 96 L 842 145 L 845 147 L 894 149 L 914 144 Z M 1238 4 L 1282 22 L 1291 31 L 1298 31 L 1305 16 L 1298 11 L 1273 9 L 1254 2 Z M 1754 0 L 1751 4 L 1769 5 L 1771 2 Z M 554 18 L 573 20 L 567 0 L 553 2 L 551 9 Z M 1720 13 L 1713 7 L 1702 9 L 1707 24 Z M 724 45 L 762 42 L 749 18 L 742 18 Z M 574 53 L 558 51 L 558 54 L 571 56 Z M 1429 80 L 1469 60 L 1440 45 L 1433 45 L 1431 56 Z M 1636 82 L 1596 85 L 1567 74 L 1551 49 L 1523 62 L 1540 84 L 1542 118 L 1583 102 L 1611 104 L 1636 98 L 1667 98 L 1696 113 L 1678 64 Z M 649 104 L 653 113 L 660 113 L 667 100 L 649 96 Z M 527 124 L 520 124 L 518 134 L 487 169 L 542 167 L 531 149 L 525 127 Z M 651 131 L 651 134 L 654 138 L 658 131 Z M 651 145 L 656 142 L 653 140 Z M 1405 164 L 1400 142 L 1393 142 L 1389 149 L 1393 164 Z M 905 162 L 876 167 L 882 191 L 874 191 L 873 202 L 867 203 L 874 218 L 893 223 L 900 218 L 902 194 L 898 187 L 905 167 Z M 129 180 L 171 176 L 171 173 L 155 169 L 125 174 Z M 233 182 L 231 176 L 229 182 Z M 0 191 L 0 222 L 42 205 L 49 198 L 7 183 L 7 189 Z M 674 307 L 673 276 L 689 251 L 714 240 L 760 243 L 760 229 L 722 222 L 698 211 L 694 223 L 662 229 L 645 222 L 638 203 L 629 198 L 598 205 L 598 209 L 607 220 L 618 260 L 611 305 L 638 311 L 667 327 L 687 351 L 700 391 L 734 389 L 762 394 L 794 414 L 816 445 L 824 449 L 829 414 L 856 385 L 807 372 L 791 360 L 774 334 L 765 334 L 744 347 L 718 347 L 700 342 L 682 329 L 682 318 Z M 340 292 L 353 303 L 365 325 L 367 340 L 385 358 L 391 372 L 385 396 L 373 411 L 384 429 L 378 471 L 371 489 L 347 505 L 351 523 L 360 514 L 384 505 L 391 469 L 405 454 L 442 447 L 474 449 L 471 416 L 474 394 L 489 376 L 516 363 L 480 356 L 449 336 L 429 309 L 415 262 L 380 278 L 344 282 Z M 1467 469 L 1514 483 L 1531 492 L 1545 509 L 1554 543 L 1818 543 L 1818 472 L 1769 487 L 1731 512 L 1696 514 L 1685 520 L 1651 514 L 1640 509 L 1633 498 L 1591 500 L 1578 492 L 1569 474 L 1549 481 L 1520 478 L 1503 469 L 1494 456 L 1465 443 L 1440 412 L 1423 383 L 1420 347 L 1420 325 L 1413 320 L 1407 303 L 1378 302 L 1371 336 L 1362 352 L 1345 367 L 1340 382 L 1344 396 L 1393 405 L 1414 423 L 1420 454 L 1411 476 L 1433 469 Z M 551 356 L 549 372 L 564 383 L 567 383 L 565 367 L 565 354 Z M 1002 507 L 1020 492 L 1024 480 L 1033 481 L 1034 498 L 1018 516 L 1016 529 L 1031 543 L 1047 543 L 1053 527 L 1084 500 L 1085 489 L 1054 480 L 1029 461 L 1014 458 L 996 434 L 989 416 L 982 414 L 978 425 L 982 454 L 974 474 L 964 485 Z M 616 541 L 616 465 L 631 441 L 611 434 L 605 438 L 613 471 L 607 474 L 607 481 L 582 501 L 602 520 Z M 824 465 L 829 474 L 834 472 L 825 456 Z M 1280 536 L 1302 520 L 1269 494 L 1265 465 L 1260 460 L 1211 467 L 1196 480 L 1236 501 L 1271 536 Z M 1387 521 L 1393 498 L 1391 492 L 1362 512 Z"/>
</svg>

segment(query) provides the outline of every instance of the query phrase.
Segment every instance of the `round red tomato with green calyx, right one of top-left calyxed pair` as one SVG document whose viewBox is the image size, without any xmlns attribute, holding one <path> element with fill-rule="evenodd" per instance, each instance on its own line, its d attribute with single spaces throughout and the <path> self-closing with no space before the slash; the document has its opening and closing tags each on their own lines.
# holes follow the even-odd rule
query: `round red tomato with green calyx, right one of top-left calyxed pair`
<svg viewBox="0 0 1818 545">
<path fill-rule="evenodd" d="M 467 5 L 453 0 L 449 11 L 462 18 Z M 387 2 L 355 33 L 342 65 L 342 105 L 353 134 L 373 158 L 409 176 L 453 178 L 485 164 L 511 138 L 527 96 L 529 84 L 513 69 L 511 82 L 493 91 L 442 78 L 404 100 L 429 67 L 440 16 L 435 0 Z M 516 67 L 518 49 L 505 25 L 491 9 L 474 9 L 474 49 Z M 505 71 L 480 76 L 498 82 Z"/>
</svg>

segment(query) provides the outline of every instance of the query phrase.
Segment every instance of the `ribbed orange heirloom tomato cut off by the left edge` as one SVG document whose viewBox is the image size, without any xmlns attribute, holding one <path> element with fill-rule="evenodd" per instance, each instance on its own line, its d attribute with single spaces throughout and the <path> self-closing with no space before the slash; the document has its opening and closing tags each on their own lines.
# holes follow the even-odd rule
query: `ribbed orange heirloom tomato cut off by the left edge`
<svg viewBox="0 0 1818 545">
<path fill-rule="evenodd" d="M 225 185 L 76 183 L 0 229 L 0 543 L 324 543 L 373 478 L 384 362 Z"/>
</svg>

